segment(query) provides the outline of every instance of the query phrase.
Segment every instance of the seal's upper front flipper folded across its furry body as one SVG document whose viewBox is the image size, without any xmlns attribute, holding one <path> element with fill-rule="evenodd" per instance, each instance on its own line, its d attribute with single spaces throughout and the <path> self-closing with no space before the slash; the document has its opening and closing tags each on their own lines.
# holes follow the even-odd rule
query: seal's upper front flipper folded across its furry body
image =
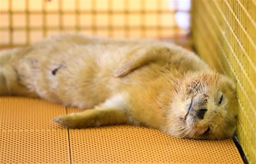
<svg viewBox="0 0 256 164">
<path fill-rule="evenodd" d="M 146 66 L 148 63 L 165 61 L 170 58 L 170 49 L 162 46 L 137 47 L 124 58 L 114 71 L 114 77 L 125 77 L 135 69 Z"/>
</svg>

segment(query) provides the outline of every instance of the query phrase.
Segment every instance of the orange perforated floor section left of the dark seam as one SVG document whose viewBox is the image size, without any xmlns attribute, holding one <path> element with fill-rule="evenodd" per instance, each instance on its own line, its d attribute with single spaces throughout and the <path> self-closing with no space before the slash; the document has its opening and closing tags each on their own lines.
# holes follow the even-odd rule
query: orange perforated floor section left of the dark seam
<svg viewBox="0 0 256 164">
<path fill-rule="evenodd" d="M 50 122 L 64 106 L 0 98 L 0 163 L 70 163 L 67 129 Z"/>
</svg>

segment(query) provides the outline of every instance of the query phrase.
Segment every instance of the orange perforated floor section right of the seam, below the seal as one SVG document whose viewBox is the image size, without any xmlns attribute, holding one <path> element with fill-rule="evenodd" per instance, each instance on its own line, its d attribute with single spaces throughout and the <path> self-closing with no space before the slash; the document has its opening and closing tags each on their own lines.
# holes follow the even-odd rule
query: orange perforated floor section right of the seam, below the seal
<svg viewBox="0 0 256 164">
<path fill-rule="evenodd" d="M 232 139 L 178 139 L 128 125 L 69 130 L 69 137 L 72 163 L 243 163 Z"/>
</svg>

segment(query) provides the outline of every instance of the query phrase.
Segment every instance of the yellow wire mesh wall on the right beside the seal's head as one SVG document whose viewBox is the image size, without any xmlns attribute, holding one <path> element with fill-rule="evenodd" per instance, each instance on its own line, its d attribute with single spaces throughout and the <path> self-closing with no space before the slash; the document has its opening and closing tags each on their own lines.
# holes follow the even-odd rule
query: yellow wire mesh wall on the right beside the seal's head
<svg viewBox="0 0 256 164">
<path fill-rule="evenodd" d="M 238 139 L 256 163 L 256 1 L 193 1 L 192 17 L 197 52 L 236 81 Z"/>
</svg>

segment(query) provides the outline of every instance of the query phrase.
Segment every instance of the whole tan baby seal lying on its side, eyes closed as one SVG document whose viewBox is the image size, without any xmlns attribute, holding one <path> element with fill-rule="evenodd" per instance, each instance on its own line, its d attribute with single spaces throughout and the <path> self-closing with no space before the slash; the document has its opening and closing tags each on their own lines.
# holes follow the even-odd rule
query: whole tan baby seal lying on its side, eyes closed
<svg viewBox="0 0 256 164">
<path fill-rule="evenodd" d="M 53 119 L 67 128 L 130 124 L 195 139 L 236 130 L 234 83 L 170 42 L 64 34 L 0 59 L 1 95 L 86 109 Z"/>
</svg>

